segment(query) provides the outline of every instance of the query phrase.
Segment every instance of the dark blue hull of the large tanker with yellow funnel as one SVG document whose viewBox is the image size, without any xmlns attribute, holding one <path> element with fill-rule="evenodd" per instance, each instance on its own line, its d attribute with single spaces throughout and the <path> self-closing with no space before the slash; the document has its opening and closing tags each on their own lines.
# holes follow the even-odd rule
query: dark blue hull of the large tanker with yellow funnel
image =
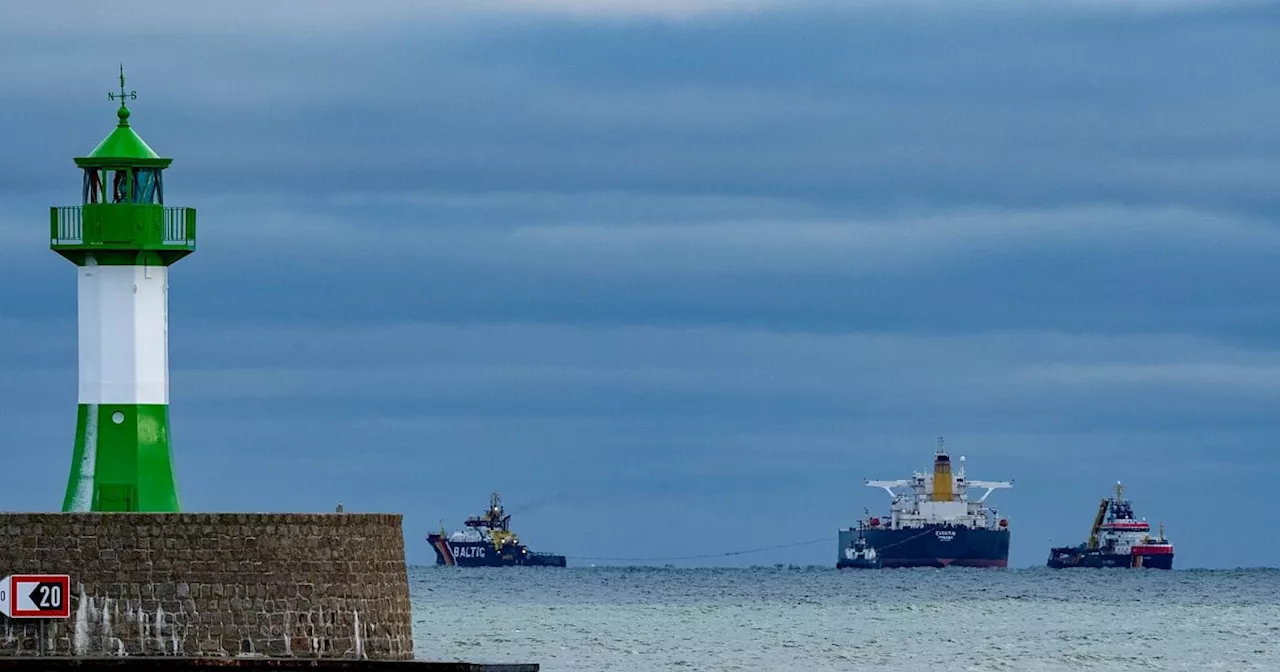
<svg viewBox="0 0 1280 672">
<path fill-rule="evenodd" d="M 1009 534 L 954 525 L 863 530 L 882 567 L 1007 567 Z M 856 535 L 852 529 L 840 531 L 841 553 Z M 844 559 L 838 556 L 836 566 Z"/>
</svg>

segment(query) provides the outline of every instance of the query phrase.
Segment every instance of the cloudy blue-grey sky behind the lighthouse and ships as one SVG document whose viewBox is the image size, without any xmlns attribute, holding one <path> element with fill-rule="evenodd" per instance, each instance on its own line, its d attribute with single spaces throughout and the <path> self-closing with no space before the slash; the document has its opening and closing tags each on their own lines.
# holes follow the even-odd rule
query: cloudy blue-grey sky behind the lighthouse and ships
<svg viewBox="0 0 1280 672">
<path fill-rule="evenodd" d="M 188 509 L 403 512 L 426 563 L 499 489 L 575 564 L 831 564 L 943 435 L 1015 566 L 1116 480 L 1180 566 L 1275 564 L 1280 10 L 1027 5 L 9 3 L 0 508 L 61 502 L 46 209 L 123 61 L 200 211 Z"/>
</svg>

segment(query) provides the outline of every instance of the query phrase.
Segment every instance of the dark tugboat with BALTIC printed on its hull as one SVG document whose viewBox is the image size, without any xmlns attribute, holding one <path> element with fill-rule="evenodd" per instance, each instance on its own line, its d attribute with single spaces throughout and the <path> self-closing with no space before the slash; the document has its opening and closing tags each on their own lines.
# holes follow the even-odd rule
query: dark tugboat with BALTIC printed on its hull
<svg viewBox="0 0 1280 672">
<path fill-rule="evenodd" d="M 511 513 L 502 508 L 502 495 L 489 497 L 489 509 L 480 516 L 470 516 L 463 522 L 466 530 L 448 536 L 444 525 L 440 532 L 426 535 L 435 549 L 435 563 L 458 567 L 564 567 L 564 556 L 532 553 L 516 532 L 511 531 Z"/>
</svg>

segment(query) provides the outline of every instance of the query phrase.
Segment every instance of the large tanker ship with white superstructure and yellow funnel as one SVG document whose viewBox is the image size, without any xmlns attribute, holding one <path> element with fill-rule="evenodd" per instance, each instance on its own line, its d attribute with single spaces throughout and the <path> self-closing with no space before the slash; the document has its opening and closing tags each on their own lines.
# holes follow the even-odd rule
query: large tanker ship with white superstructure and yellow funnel
<svg viewBox="0 0 1280 672">
<path fill-rule="evenodd" d="M 952 474 L 951 456 L 938 438 L 933 474 L 915 472 L 910 479 L 867 481 L 883 488 L 892 498 L 887 518 L 867 516 L 858 527 L 840 530 L 836 567 L 851 567 L 845 549 L 859 536 L 876 549 L 882 567 L 1007 567 L 1009 520 L 1001 518 L 987 497 L 1012 481 L 972 481 L 965 477 L 964 457 Z M 969 488 L 986 492 L 969 499 Z"/>
</svg>

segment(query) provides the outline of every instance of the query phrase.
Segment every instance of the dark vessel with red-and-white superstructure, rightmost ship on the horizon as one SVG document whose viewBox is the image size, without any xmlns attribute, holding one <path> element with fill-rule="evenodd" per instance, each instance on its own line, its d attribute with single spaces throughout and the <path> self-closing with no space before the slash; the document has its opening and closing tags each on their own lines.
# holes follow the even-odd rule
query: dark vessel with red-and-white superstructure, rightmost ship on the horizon
<svg viewBox="0 0 1280 672">
<path fill-rule="evenodd" d="M 1134 520 L 1124 485 L 1116 481 L 1115 495 L 1098 503 L 1089 539 L 1078 547 L 1050 549 L 1048 566 L 1172 570 L 1174 544 L 1165 539 L 1165 524 L 1160 524 L 1160 536 L 1152 539 L 1147 520 Z"/>
</svg>

